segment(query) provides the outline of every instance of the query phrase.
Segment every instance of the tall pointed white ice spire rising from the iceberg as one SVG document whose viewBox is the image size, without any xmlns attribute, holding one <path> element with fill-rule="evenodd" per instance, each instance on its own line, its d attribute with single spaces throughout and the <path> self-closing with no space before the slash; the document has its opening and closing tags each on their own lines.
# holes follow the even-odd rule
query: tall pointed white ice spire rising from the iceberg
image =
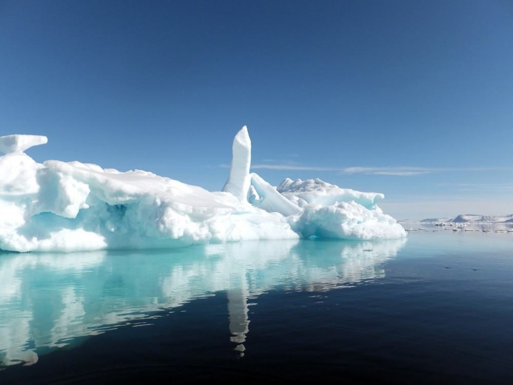
<svg viewBox="0 0 513 385">
<path fill-rule="evenodd" d="M 233 139 L 230 176 L 223 187 L 223 191 L 230 192 L 241 201 L 246 200 L 251 184 L 250 166 L 251 140 L 249 139 L 248 128 L 244 126 Z"/>
</svg>

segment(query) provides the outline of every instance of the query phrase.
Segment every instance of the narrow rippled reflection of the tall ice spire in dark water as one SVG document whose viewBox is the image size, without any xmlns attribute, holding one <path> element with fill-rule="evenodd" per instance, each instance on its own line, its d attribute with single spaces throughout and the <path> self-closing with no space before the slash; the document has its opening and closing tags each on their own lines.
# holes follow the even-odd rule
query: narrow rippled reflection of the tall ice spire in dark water
<svg viewBox="0 0 513 385">
<path fill-rule="evenodd" d="M 228 319 L 230 321 L 230 341 L 237 343 L 235 350 L 241 352 L 244 356 L 244 341 L 246 334 L 249 332 L 249 316 L 248 316 L 248 296 L 249 290 L 246 279 L 243 279 L 241 286 L 228 290 Z"/>
</svg>

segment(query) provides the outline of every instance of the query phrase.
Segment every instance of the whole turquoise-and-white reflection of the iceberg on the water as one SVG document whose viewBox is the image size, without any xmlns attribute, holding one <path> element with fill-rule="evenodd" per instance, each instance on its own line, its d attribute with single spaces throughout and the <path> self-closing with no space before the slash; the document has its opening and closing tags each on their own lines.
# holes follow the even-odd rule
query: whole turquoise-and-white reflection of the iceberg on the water
<svg viewBox="0 0 513 385">
<path fill-rule="evenodd" d="M 244 352 L 248 300 L 273 288 L 326 291 L 384 277 L 406 239 L 255 241 L 171 251 L 0 254 L 0 363 L 104 333 L 226 291 L 231 341 Z"/>
</svg>

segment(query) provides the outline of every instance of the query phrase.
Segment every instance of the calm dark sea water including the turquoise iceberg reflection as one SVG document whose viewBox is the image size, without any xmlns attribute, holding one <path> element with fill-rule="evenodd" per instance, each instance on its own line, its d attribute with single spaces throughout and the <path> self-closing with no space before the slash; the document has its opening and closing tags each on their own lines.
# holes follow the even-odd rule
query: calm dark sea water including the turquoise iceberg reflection
<svg viewBox="0 0 513 385">
<path fill-rule="evenodd" d="M 0 383 L 511 383 L 512 277 L 493 232 L 4 253 Z"/>
</svg>

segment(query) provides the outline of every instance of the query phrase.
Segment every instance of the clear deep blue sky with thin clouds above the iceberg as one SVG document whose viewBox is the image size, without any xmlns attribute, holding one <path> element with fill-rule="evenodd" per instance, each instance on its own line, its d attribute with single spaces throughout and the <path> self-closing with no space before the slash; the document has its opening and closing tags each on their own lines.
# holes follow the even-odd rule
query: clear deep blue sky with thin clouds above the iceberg
<svg viewBox="0 0 513 385">
<path fill-rule="evenodd" d="M 398 219 L 513 213 L 509 1 L 0 0 L 0 134 L 38 161 L 222 188 L 247 125 L 272 184 Z"/>
</svg>

